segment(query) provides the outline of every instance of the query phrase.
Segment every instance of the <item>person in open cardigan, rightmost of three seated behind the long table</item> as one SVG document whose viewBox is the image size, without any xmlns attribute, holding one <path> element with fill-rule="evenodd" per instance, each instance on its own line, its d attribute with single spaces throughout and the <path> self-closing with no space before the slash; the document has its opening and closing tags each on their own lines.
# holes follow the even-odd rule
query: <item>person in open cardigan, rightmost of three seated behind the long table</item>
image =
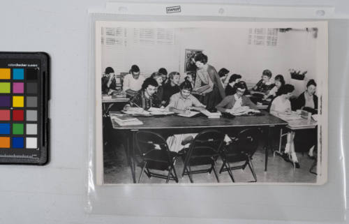
<svg viewBox="0 0 349 224">
<path fill-rule="evenodd" d="M 216 109 L 220 112 L 229 112 L 231 114 L 236 114 L 242 112 L 242 110 L 253 109 L 258 110 L 258 107 L 252 103 L 252 101 L 244 96 L 247 89 L 246 82 L 240 81 L 235 84 L 236 93 L 234 95 L 225 96 L 221 103 L 216 105 Z"/>
</svg>

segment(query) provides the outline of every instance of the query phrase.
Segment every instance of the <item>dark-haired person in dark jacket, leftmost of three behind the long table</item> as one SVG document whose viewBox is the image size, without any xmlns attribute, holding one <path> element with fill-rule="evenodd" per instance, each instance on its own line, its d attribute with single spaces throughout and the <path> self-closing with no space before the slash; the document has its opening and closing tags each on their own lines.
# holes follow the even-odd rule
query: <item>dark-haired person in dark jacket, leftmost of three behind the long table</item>
<svg viewBox="0 0 349 224">
<path fill-rule="evenodd" d="M 145 79 L 142 89 L 133 96 L 128 105 L 125 105 L 124 110 L 131 110 L 131 107 L 138 107 L 141 110 L 148 110 L 150 107 L 160 107 L 160 102 L 154 97 L 156 87 L 158 87 L 158 82 L 152 77 Z"/>
</svg>

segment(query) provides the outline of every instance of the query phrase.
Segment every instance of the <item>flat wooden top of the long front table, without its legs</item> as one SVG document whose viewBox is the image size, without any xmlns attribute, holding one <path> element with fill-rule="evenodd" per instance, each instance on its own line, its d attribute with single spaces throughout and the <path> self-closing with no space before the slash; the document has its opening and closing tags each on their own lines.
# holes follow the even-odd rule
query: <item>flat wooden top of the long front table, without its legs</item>
<svg viewBox="0 0 349 224">
<path fill-rule="evenodd" d="M 235 118 L 221 117 L 219 119 L 208 119 L 203 114 L 198 117 L 179 117 L 170 115 L 165 117 L 138 117 L 143 122 L 136 126 L 118 126 L 113 124 L 117 130 L 140 130 L 140 129 L 187 129 L 187 128 L 232 128 L 244 126 L 286 126 L 288 123 L 274 117 L 272 114 L 262 112 L 262 116 L 239 116 Z"/>
</svg>

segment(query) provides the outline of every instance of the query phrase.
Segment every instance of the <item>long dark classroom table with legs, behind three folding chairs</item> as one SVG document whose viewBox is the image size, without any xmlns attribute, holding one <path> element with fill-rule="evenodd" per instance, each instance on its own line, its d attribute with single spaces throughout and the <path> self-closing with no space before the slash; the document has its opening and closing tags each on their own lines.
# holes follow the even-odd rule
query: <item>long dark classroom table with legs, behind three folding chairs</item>
<svg viewBox="0 0 349 224">
<path fill-rule="evenodd" d="M 122 136 L 128 165 L 131 167 L 133 183 L 135 180 L 135 133 L 138 130 L 150 130 L 161 134 L 165 139 L 174 134 L 199 133 L 202 130 L 215 129 L 228 133 L 229 130 L 243 130 L 244 128 L 264 128 L 267 129 L 268 139 L 265 147 L 265 171 L 267 171 L 268 149 L 271 147 L 271 129 L 282 128 L 288 125 L 286 121 L 274 117 L 272 114 L 262 112 L 263 116 L 240 116 L 235 118 L 221 117 L 219 119 L 208 119 L 205 116 L 180 117 L 170 115 L 165 117 L 138 117 L 143 122 L 137 126 L 119 126 L 112 121 L 115 136 Z"/>
</svg>

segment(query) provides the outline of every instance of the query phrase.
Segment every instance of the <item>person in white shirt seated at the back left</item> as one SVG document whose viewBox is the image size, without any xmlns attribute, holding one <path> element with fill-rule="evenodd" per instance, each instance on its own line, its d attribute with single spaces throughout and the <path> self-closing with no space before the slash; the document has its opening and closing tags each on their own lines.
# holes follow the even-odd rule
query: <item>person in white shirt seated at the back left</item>
<svg viewBox="0 0 349 224">
<path fill-rule="evenodd" d="M 131 66 L 130 73 L 125 75 L 123 88 L 128 96 L 135 96 L 142 88 L 145 78 L 140 75 L 140 68 L 137 65 Z"/>
</svg>

